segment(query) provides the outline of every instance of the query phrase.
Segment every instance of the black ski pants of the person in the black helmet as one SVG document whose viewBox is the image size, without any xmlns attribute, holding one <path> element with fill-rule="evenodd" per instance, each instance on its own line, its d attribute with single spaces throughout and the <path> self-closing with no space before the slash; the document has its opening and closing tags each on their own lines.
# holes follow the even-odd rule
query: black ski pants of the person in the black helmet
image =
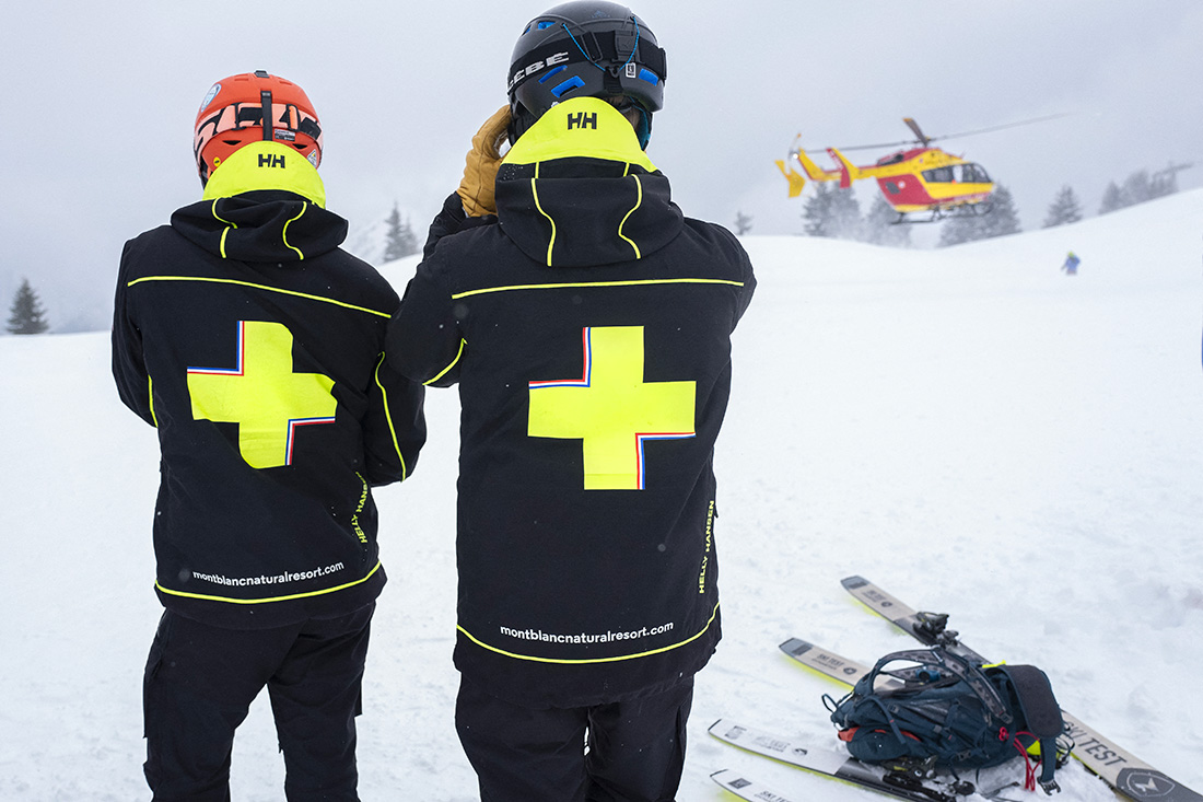
<svg viewBox="0 0 1203 802">
<path fill-rule="evenodd" d="M 671 802 L 693 678 L 654 696 L 532 709 L 460 682 L 456 730 L 482 802 Z"/>
</svg>

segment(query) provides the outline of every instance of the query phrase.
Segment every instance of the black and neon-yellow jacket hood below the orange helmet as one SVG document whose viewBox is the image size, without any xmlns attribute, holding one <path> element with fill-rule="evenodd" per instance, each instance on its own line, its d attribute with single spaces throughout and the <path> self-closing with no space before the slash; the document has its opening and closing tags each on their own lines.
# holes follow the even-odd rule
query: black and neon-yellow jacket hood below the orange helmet
<svg viewBox="0 0 1203 802">
<path fill-rule="evenodd" d="M 236 151 L 213 172 L 205 199 L 171 216 L 182 236 L 223 259 L 301 261 L 333 250 L 346 220 L 322 208 L 316 169 L 278 142 Z"/>
</svg>

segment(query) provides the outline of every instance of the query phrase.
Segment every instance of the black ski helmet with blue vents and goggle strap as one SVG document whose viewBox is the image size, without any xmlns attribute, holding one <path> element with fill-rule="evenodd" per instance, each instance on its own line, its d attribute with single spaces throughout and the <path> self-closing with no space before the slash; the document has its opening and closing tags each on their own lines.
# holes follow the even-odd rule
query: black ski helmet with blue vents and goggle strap
<svg viewBox="0 0 1203 802">
<path fill-rule="evenodd" d="M 510 143 L 556 104 L 571 98 L 623 98 L 640 112 L 647 146 L 652 112 L 664 105 L 664 51 L 627 6 L 575 0 L 539 14 L 514 45 L 506 92 Z"/>
</svg>

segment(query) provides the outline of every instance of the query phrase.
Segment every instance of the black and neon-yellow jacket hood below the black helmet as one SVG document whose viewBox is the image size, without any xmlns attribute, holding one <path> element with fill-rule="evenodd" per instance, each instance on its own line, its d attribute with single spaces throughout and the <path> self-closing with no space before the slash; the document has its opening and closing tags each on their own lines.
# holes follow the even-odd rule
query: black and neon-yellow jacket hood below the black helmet
<svg viewBox="0 0 1203 802">
<path fill-rule="evenodd" d="M 659 250 L 683 216 L 626 117 L 598 98 L 552 107 L 497 173 L 505 235 L 547 266 L 630 261 Z"/>
</svg>

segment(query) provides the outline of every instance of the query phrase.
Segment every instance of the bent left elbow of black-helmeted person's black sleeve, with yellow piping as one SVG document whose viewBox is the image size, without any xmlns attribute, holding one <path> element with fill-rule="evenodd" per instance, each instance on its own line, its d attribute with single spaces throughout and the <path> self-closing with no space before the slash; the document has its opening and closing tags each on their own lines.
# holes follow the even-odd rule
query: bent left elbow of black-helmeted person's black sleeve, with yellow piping
<svg viewBox="0 0 1203 802">
<path fill-rule="evenodd" d="M 410 381 L 450 387 L 460 379 L 468 342 L 451 291 L 439 278 L 434 261 L 417 266 L 389 322 L 385 353 L 386 364 Z"/>
</svg>

